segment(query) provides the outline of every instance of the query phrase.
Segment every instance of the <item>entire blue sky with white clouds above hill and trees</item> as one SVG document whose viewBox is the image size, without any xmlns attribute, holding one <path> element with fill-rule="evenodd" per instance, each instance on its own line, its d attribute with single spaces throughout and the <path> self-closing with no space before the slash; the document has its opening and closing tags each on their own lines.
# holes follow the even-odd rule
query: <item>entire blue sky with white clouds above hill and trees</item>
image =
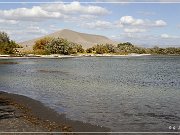
<svg viewBox="0 0 180 135">
<path fill-rule="evenodd" d="M 0 0 L 0 31 L 16 42 L 71 29 L 143 47 L 180 47 L 179 13 L 180 0 Z"/>
</svg>

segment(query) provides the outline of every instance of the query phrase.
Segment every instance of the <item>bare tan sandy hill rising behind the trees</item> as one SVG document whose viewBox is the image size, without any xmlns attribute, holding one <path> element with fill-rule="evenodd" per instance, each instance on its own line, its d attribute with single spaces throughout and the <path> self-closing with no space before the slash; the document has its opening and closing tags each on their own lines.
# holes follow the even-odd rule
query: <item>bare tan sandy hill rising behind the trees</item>
<svg viewBox="0 0 180 135">
<path fill-rule="evenodd" d="M 111 39 L 105 36 L 80 33 L 68 29 L 63 29 L 43 37 L 64 38 L 67 39 L 68 41 L 81 44 L 85 49 L 90 48 L 95 44 L 105 44 L 105 43 L 116 44 L 115 41 L 112 41 Z M 35 41 L 43 37 L 21 42 L 19 44 L 22 45 L 25 50 L 32 50 L 32 46 L 34 45 Z"/>
</svg>

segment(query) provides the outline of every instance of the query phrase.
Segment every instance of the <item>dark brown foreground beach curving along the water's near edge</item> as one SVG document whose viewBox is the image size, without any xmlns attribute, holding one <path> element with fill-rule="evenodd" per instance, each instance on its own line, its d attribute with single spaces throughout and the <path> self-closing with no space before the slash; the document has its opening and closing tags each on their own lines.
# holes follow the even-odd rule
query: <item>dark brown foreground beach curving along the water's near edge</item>
<svg viewBox="0 0 180 135">
<path fill-rule="evenodd" d="M 66 118 L 64 114 L 58 114 L 53 109 L 46 107 L 41 102 L 31 99 L 29 97 L 0 91 L 0 123 L 3 125 L 7 125 L 12 120 L 18 122 L 23 121 L 23 123 L 25 123 L 26 126 L 29 125 L 29 127 L 24 127 L 22 129 L 12 129 L 9 127 L 8 129 L 0 128 L 0 130 L 3 130 L 0 132 L 5 132 L 7 130 L 12 132 L 27 132 L 30 129 L 36 132 L 111 131 L 109 128 L 106 127 L 70 120 Z M 22 124 L 21 126 L 23 127 L 25 125 Z M 11 124 L 11 126 L 17 127 L 17 125 L 13 124 Z"/>
</svg>

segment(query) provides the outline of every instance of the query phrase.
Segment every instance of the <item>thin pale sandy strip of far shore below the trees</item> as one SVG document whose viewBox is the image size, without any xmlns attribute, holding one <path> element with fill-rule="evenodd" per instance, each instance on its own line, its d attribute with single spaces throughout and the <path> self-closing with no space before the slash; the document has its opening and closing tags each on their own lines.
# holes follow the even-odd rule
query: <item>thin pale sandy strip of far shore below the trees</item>
<svg viewBox="0 0 180 135">
<path fill-rule="evenodd" d="M 77 55 L 34 55 L 29 54 L 27 56 L 11 56 L 11 55 L 0 55 L 0 59 L 9 59 L 9 58 L 74 58 L 74 57 L 137 57 L 137 56 L 149 56 L 151 54 L 128 54 L 128 55 L 115 55 L 115 54 L 77 54 Z"/>
</svg>

